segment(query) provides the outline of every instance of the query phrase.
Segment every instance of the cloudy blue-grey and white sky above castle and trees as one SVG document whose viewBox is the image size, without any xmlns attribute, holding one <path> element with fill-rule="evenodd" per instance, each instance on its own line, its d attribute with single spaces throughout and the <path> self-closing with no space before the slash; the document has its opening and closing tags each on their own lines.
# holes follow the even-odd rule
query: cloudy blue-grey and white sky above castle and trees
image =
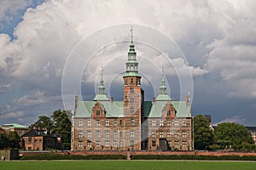
<svg viewBox="0 0 256 170">
<path fill-rule="evenodd" d="M 190 93 L 192 116 L 256 126 L 254 0 L 0 0 L 0 124 L 94 98 L 101 68 L 122 100 L 133 26 L 145 99 L 161 67 L 172 100 Z"/>
</svg>

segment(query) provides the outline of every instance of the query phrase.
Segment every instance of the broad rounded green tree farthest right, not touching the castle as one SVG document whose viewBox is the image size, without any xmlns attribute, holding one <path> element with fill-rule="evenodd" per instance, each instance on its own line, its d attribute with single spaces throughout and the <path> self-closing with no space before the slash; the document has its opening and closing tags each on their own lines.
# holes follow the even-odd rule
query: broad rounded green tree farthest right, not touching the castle
<svg viewBox="0 0 256 170">
<path fill-rule="evenodd" d="M 251 133 L 243 125 L 235 122 L 223 122 L 214 128 L 214 139 L 221 148 L 242 150 L 247 144 L 253 144 Z"/>
</svg>

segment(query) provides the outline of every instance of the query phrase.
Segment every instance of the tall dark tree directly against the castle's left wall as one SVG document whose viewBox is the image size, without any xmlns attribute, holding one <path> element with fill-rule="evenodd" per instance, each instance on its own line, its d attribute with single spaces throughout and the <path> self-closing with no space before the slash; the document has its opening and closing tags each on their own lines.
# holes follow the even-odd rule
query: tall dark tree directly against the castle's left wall
<svg viewBox="0 0 256 170">
<path fill-rule="evenodd" d="M 67 111 L 54 111 L 51 118 L 53 122 L 52 132 L 60 134 L 63 149 L 70 150 L 71 122 L 67 116 Z"/>
</svg>

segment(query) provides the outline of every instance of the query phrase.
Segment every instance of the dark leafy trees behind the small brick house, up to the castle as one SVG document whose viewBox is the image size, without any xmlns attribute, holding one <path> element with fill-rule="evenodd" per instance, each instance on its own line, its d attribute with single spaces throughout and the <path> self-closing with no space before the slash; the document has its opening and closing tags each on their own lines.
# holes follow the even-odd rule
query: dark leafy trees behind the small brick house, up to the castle
<svg viewBox="0 0 256 170">
<path fill-rule="evenodd" d="M 67 111 L 54 111 L 51 116 L 38 116 L 38 121 L 29 126 L 29 129 L 47 130 L 48 133 L 61 135 L 64 150 L 70 150 L 71 122 Z"/>
</svg>

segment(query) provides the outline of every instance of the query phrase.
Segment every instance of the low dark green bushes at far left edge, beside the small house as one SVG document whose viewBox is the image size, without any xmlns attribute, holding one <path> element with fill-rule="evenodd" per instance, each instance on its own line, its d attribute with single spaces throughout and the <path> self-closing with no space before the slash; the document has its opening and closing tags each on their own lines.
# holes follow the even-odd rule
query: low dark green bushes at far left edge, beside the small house
<svg viewBox="0 0 256 170">
<path fill-rule="evenodd" d="M 16 132 L 0 133 L 0 149 L 19 149 L 20 136 Z"/>
</svg>

